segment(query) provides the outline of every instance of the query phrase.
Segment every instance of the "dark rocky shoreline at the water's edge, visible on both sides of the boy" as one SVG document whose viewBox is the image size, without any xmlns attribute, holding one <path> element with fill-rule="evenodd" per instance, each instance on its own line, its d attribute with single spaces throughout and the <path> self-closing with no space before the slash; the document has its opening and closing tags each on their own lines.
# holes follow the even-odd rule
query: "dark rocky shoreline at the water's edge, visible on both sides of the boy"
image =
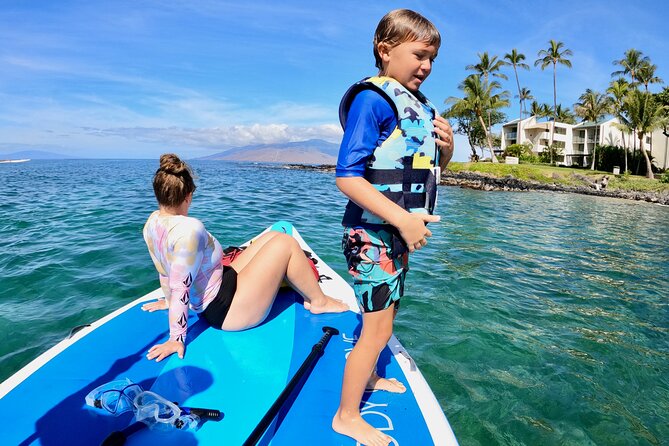
<svg viewBox="0 0 669 446">
<path fill-rule="evenodd" d="M 303 164 L 285 164 L 287 169 L 317 170 L 320 172 L 334 172 L 335 166 L 324 165 L 303 165 Z M 626 200 L 648 201 L 650 203 L 659 203 L 669 205 L 669 193 L 658 192 L 637 192 L 620 189 L 596 190 L 588 186 L 567 186 L 557 183 L 542 183 L 539 181 L 519 180 L 511 175 L 506 177 L 494 177 L 476 172 L 451 172 L 446 171 L 441 174 L 441 184 L 445 186 L 460 186 L 469 189 L 478 189 L 486 191 L 530 191 L 547 190 L 553 192 L 569 192 L 574 194 L 595 195 L 598 197 L 623 198 Z"/>
</svg>

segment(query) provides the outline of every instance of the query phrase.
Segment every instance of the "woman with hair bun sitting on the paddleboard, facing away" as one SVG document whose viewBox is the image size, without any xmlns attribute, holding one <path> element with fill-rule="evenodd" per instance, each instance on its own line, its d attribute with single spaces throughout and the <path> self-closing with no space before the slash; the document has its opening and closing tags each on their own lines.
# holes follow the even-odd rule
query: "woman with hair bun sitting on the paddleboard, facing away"
<svg viewBox="0 0 669 446">
<path fill-rule="evenodd" d="M 268 315 L 284 279 L 304 298 L 311 313 L 338 313 L 348 306 L 323 294 L 311 264 L 291 236 L 270 231 L 257 238 L 230 264 L 200 220 L 189 217 L 195 182 L 177 155 L 160 157 L 153 178 L 158 200 L 144 225 L 144 240 L 158 271 L 165 299 L 145 304 L 145 311 L 168 309 L 169 340 L 157 344 L 148 359 L 184 357 L 188 309 L 212 327 L 237 331 L 260 324 Z"/>
</svg>

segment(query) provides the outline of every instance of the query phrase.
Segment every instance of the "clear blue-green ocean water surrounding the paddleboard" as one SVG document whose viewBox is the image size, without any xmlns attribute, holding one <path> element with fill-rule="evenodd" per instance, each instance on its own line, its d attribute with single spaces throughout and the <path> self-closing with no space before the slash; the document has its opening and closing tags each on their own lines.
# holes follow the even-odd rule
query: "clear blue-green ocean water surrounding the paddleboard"
<svg viewBox="0 0 669 446">
<path fill-rule="evenodd" d="M 157 288 L 157 160 L 0 165 L 0 379 Z M 333 174 L 194 162 L 225 245 L 292 221 L 340 274 Z M 466 445 L 669 444 L 669 208 L 440 188 L 396 334 Z"/>
</svg>

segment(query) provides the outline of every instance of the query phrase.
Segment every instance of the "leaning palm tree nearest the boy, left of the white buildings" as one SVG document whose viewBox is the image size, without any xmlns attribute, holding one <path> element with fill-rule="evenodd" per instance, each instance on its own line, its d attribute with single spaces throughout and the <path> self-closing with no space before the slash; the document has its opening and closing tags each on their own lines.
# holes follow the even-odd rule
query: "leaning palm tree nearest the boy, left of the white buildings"
<svg viewBox="0 0 669 446">
<path fill-rule="evenodd" d="M 454 113 L 465 114 L 472 112 L 476 115 L 485 132 L 492 162 L 499 162 L 492 148 L 492 138 L 488 127 L 483 121 L 483 115 L 489 114 L 493 110 L 507 107 L 509 105 L 509 101 L 506 99 L 508 93 L 504 91 L 500 94 L 494 94 L 493 91 L 495 89 L 501 88 L 500 84 L 497 81 L 492 81 L 489 84 L 485 81 L 481 82 L 481 78 L 477 74 L 468 76 L 458 88 L 464 92 L 464 98 L 451 97 L 446 102 L 453 104 L 451 110 Z"/>
</svg>

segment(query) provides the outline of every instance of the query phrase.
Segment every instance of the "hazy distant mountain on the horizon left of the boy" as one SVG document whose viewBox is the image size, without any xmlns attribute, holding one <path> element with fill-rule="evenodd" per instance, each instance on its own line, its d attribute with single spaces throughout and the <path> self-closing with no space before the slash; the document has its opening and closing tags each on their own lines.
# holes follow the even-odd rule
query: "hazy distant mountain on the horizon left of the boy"
<svg viewBox="0 0 669 446">
<path fill-rule="evenodd" d="M 308 141 L 235 147 L 225 152 L 198 159 L 262 163 L 335 164 L 338 151 L 338 144 L 322 139 L 310 139 Z"/>
</svg>

